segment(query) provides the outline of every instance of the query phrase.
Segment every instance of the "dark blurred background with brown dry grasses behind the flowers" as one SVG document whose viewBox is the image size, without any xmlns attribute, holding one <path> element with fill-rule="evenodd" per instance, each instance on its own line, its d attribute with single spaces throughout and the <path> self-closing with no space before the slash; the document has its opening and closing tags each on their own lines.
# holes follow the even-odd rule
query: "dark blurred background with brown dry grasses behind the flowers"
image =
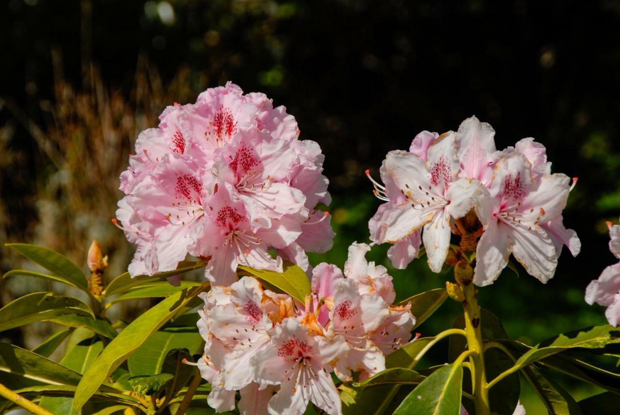
<svg viewBox="0 0 620 415">
<path fill-rule="evenodd" d="M 546 286 L 506 271 L 480 302 L 527 343 L 602 323 L 583 289 L 615 261 L 604 222 L 620 213 L 619 35 L 618 1 L 4 1 L 0 238 L 84 264 L 96 237 L 122 272 L 131 247 L 109 219 L 136 134 L 230 80 L 286 105 L 321 144 L 338 237 L 315 263 L 342 266 L 367 240 L 380 202 L 363 171 L 377 175 L 419 131 L 477 115 L 498 148 L 536 138 L 554 172 L 579 178 L 564 223 L 582 252 L 565 250 Z M 386 249 L 371 256 L 387 264 Z M 2 271 L 20 261 L 0 258 Z M 393 271 L 399 298 L 445 284 L 424 262 Z M 6 284 L 2 300 L 33 287 Z M 446 305 L 420 330 L 458 312 Z"/>
</svg>

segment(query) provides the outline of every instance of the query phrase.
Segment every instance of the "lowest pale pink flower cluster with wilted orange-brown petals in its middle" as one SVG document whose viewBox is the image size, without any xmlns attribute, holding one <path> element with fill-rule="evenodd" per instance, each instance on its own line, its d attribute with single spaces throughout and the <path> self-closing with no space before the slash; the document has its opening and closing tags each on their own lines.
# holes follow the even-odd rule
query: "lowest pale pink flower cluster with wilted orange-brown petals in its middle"
<svg viewBox="0 0 620 415">
<path fill-rule="evenodd" d="M 368 250 L 364 243 L 349 248 L 345 275 L 317 265 L 305 304 L 253 277 L 201 294 L 198 367 L 211 383 L 209 405 L 232 411 L 239 391 L 241 414 L 303 414 L 310 402 L 341 414 L 330 373 L 350 381 L 385 370 L 386 354 L 410 341 L 415 324 L 410 305 L 392 305 L 392 278 L 366 261 Z"/>
</svg>

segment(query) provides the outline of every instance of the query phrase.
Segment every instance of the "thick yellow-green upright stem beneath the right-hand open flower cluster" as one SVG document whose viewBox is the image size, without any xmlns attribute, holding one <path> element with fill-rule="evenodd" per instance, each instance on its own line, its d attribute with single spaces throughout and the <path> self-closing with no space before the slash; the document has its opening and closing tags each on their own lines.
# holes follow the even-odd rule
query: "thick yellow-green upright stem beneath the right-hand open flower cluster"
<svg viewBox="0 0 620 415">
<path fill-rule="evenodd" d="M 463 312 L 465 317 L 465 333 L 467 336 L 467 349 L 477 351 L 469 357 L 472 372 L 472 392 L 475 396 L 477 415 L 490 415 L 489 391 L 487 390 L 487 375 L 484 368 L 484 344 L 482 343 L 482 321 L 480 306 L 476 299 L 474 284 L 461 284 L 465 294 Z"/>
</svg>

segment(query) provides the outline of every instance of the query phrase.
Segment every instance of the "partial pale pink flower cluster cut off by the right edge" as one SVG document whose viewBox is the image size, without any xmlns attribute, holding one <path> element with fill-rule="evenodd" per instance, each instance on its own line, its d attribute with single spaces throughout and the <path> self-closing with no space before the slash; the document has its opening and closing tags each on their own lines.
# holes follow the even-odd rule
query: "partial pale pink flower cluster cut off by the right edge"
<svg viewBox="0 0 620 415">
<path fill-rule="evenodd" d="M 620 260 L 620 225 L 609 227 L 609 250 Z M 620 261 L 609 265 L 598 279 L 593 280 L 585 289 L 585 300 L 592 305 L 595 302 L 607 307 L 605 317 L 609 324 L 616 327 L 620 324 Z"/>
</svg>

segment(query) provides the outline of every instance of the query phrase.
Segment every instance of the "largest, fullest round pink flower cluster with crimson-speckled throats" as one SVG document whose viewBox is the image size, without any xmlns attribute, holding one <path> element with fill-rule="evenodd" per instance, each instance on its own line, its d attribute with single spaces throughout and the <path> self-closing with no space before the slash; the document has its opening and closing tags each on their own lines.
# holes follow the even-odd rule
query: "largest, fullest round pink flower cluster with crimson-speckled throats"
<svg viewBox="0 0 620 415">
<path fill-rule="evenodd" d="M 285 107 L 228 82 L 159 120 L 120 177 L 117 218 L 138 245 L 131 276 L 174 270 L 189 253 L 211 258 L 206 277 L 229 285 L 238 264 L 281 272 L 284 258 L 308 270 L 306 251 L 332 246 L 329 214 L 316 210 L 330 201 L 324 155 L 298 139 Z"/>
</svg>

